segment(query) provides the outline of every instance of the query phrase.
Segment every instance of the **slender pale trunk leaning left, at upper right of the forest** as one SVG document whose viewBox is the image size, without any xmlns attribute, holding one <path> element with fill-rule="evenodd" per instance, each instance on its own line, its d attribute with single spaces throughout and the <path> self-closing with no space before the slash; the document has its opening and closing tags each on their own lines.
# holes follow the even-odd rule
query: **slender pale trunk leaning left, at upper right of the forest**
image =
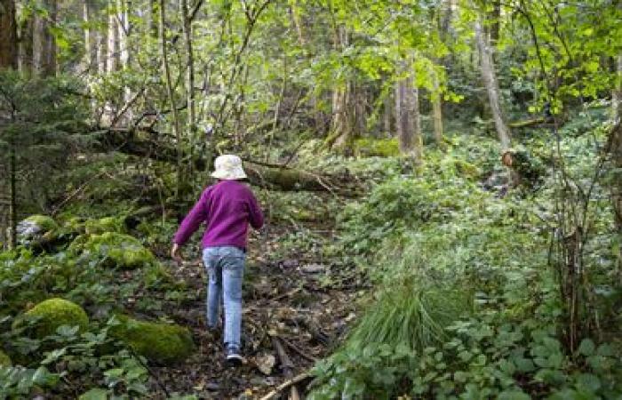
<svg viewBox="0 0 622 400">
<path fill-rule="evenodd" d="M 490 57 L 490 47 L 486 43 L 484 37 L 482 23 L 480 20 L 475 21 L 475 41 L 477 43 L 477 50 L 480 57 L 480 68 L 482 70 L 483 83 L 486 86 L 486 92 L 488 92 L 488 100 L 490 101 L 490 111 L 492 112 L 492 118 L 495 121 L 495 127 L 497 129 L 498 139 L 501 141 L 501 147 L 509 148 L 511 146 L 511 134 L 506 125 L 501 104 L 499 102 L 499 89 L 497 76 L 495 74 L 494 64 Z"/>
</svg>

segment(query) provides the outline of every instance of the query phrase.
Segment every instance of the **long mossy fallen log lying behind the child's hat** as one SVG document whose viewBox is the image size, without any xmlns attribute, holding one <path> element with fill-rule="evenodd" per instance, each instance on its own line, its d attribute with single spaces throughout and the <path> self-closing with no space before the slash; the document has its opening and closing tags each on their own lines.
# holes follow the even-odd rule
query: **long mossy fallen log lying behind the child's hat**
<svg viewBox="0 0 622 400">
<path fill-rule="evenodd" d="M 118 151 L 167 163 L 177 161 L 177 150 L 171 145 L 171 139 L 157 132 L 109 129 L 96 132 L 95 138 L 93 146 L 96 151 Z M 206 160 L 201 156 L 196 156 L 191 164 L 197 171 L 208 168 Z M 253 163 L 250 160 L 244 162 L 244 169 L 251 184 L 265 188 L 339 193 L 354 191 L 354 185 L 348 183 L 351 179 L 345 175 L 316 174 L 286 166 Z"/>
</svg>

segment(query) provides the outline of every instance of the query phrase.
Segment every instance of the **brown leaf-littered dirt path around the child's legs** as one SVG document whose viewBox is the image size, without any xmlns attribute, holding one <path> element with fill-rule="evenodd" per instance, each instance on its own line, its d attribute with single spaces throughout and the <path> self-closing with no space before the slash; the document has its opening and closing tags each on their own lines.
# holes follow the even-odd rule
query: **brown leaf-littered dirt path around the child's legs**
<svg viewBox="0 0 622 400">
<path fill-rule="evenodd" d="M 326 218 L 307 222 L 304 230 L 328 243 L 335 232 L 334 220 Z M 243 284 L 245 361 L 236 368 L 224 363 L 221 332 L 206 329 L 207 276 L 199 252 L 181 266 L 166 257 L 165 249 L 160 252 L 163 264 L 187 284 L 184 301 L 178 305 L 167 301 L 171 308 L 167 315 L 192 330 L 197 347 L 184 364 L 151 368 L 156 398 L 172 393 L 207 399 L 261 398 L 288 378 L 307 372 L 338 344 L 339 335 L 355 319 L 363 276 L 339 260 L 325 259 L 321 250 L 288 245 L 285 237 L 292 229 L 303 228 L 300 224 L 268 223 L 264 234 L 251 235 Z M 301 385 L 308 382 L 299 384 L 302 392 Z"/>
</svg>

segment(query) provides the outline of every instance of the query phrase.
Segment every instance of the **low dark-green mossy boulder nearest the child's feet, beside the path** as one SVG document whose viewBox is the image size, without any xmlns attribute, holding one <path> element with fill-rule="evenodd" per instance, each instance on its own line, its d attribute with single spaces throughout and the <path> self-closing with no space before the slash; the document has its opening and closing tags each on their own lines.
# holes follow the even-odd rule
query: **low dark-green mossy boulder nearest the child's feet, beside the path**
<svg viewBox="0 0 622 400">
<path fill-rule="evenodd" d="M 110 330 L 112 336 L 158 364 L 183 361 L 195 348 L 190 332 L 183 326 L 139 321 L 129 316 L 116 319 L 119 324 Z"/>
</svg>

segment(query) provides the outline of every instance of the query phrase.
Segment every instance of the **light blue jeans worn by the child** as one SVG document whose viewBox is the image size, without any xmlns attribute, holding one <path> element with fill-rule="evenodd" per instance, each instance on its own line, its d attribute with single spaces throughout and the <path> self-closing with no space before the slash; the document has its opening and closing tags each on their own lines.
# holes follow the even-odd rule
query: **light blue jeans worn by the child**
<svg viewBox="0 0 622 400">
<path fill-rule="evenodd" d="M 203 263 L 210 283 L 207 290 L 207 324 L 218 325 L 220 299 L 225 308 L 225 346 L 240 347 L 242 330 L 242 280 L 246 253 L 235 246 L 206 247 Z"/>
</svg>

